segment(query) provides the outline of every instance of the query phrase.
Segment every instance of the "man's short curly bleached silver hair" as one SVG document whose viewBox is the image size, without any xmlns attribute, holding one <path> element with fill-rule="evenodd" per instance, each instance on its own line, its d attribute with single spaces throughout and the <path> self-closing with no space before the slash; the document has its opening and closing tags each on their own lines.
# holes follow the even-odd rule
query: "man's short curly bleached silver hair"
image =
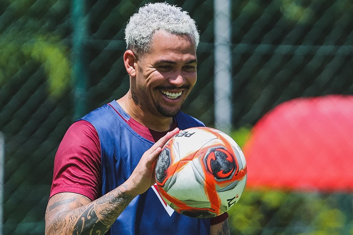
<svg viewBox="0 0 353 235">
<path fill-rule="evenodd" d="M 148 3 L 133 14 L 125 28 L 126 49 L 136 56 L 146 54 L 154 33 L 163 30 L 176 35 L 189 35 L 197 48 L 199 31 L 196 22 L 181 7 L 168 3 Z"/>
</svg>

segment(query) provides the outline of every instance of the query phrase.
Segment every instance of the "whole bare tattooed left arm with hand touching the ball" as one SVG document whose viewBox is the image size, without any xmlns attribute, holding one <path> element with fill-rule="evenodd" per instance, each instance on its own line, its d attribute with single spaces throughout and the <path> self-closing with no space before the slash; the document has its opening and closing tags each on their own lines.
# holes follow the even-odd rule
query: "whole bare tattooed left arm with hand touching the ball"
<svg viewBox="0 0 353 235">
<path fill-rule="evenodd" d="M 103 235 L 131 200 L 155 183 L 154 165 L 162 146 L 178 128 L 168 132 L 141 157 L 124 184 L 94 200 L 77 193 L 52 196 L 45 215 L 45 235 Z"/>
</svg>

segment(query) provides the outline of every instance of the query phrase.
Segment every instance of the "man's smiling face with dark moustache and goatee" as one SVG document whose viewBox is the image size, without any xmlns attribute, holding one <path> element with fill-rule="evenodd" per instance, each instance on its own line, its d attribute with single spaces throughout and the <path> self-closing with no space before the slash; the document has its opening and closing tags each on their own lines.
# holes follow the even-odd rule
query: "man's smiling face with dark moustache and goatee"
<svg viewBox="0 0 353 235">
<path fill-rule="evenodd" d="M 190 37 L 156 32 L 149 52 L 135 63 L 134 103 L 153 116 L 176 115 L 195 85 L 196 65 L 195 43 Z"/>
</svg>

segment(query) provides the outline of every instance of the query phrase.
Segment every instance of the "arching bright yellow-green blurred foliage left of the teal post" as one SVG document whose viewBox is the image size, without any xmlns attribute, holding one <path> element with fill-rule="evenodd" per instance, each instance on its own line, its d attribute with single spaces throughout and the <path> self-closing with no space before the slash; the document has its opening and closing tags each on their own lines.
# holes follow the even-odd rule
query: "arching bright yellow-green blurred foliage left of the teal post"
<svg viewBox="0 0 353 235">
<path fill-rule="evenodd" d="M 60 97 L 70 86 L 69 51 L 56 39 L 36 38 L 18 43 L 15 36 L 6 35 L 5 40 L 0 39 L 0 48 L 0 86 L 11 82 L 29 64 L 43 68 L 49 97 Z"/>
</svg>

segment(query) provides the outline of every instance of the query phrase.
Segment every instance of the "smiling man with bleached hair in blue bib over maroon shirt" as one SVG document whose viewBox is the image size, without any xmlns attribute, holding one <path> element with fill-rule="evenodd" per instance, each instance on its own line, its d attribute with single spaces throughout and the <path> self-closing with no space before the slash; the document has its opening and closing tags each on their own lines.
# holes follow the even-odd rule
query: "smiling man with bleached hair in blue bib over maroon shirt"
<svg viewBox="0 0 353 235">
<path fill-rule="evenodd" d="M 195 21 L 181 8 L 147 4 L 130 18 L 125 39 L 130 89 L 66 132 L 55 156 L 46 235 L 229 234 L 226 213 L 180 215 L 152 188 L 164 143 L 179 129 L 203 125 L 180 112 L 197 77 Z"/>
</svg>

